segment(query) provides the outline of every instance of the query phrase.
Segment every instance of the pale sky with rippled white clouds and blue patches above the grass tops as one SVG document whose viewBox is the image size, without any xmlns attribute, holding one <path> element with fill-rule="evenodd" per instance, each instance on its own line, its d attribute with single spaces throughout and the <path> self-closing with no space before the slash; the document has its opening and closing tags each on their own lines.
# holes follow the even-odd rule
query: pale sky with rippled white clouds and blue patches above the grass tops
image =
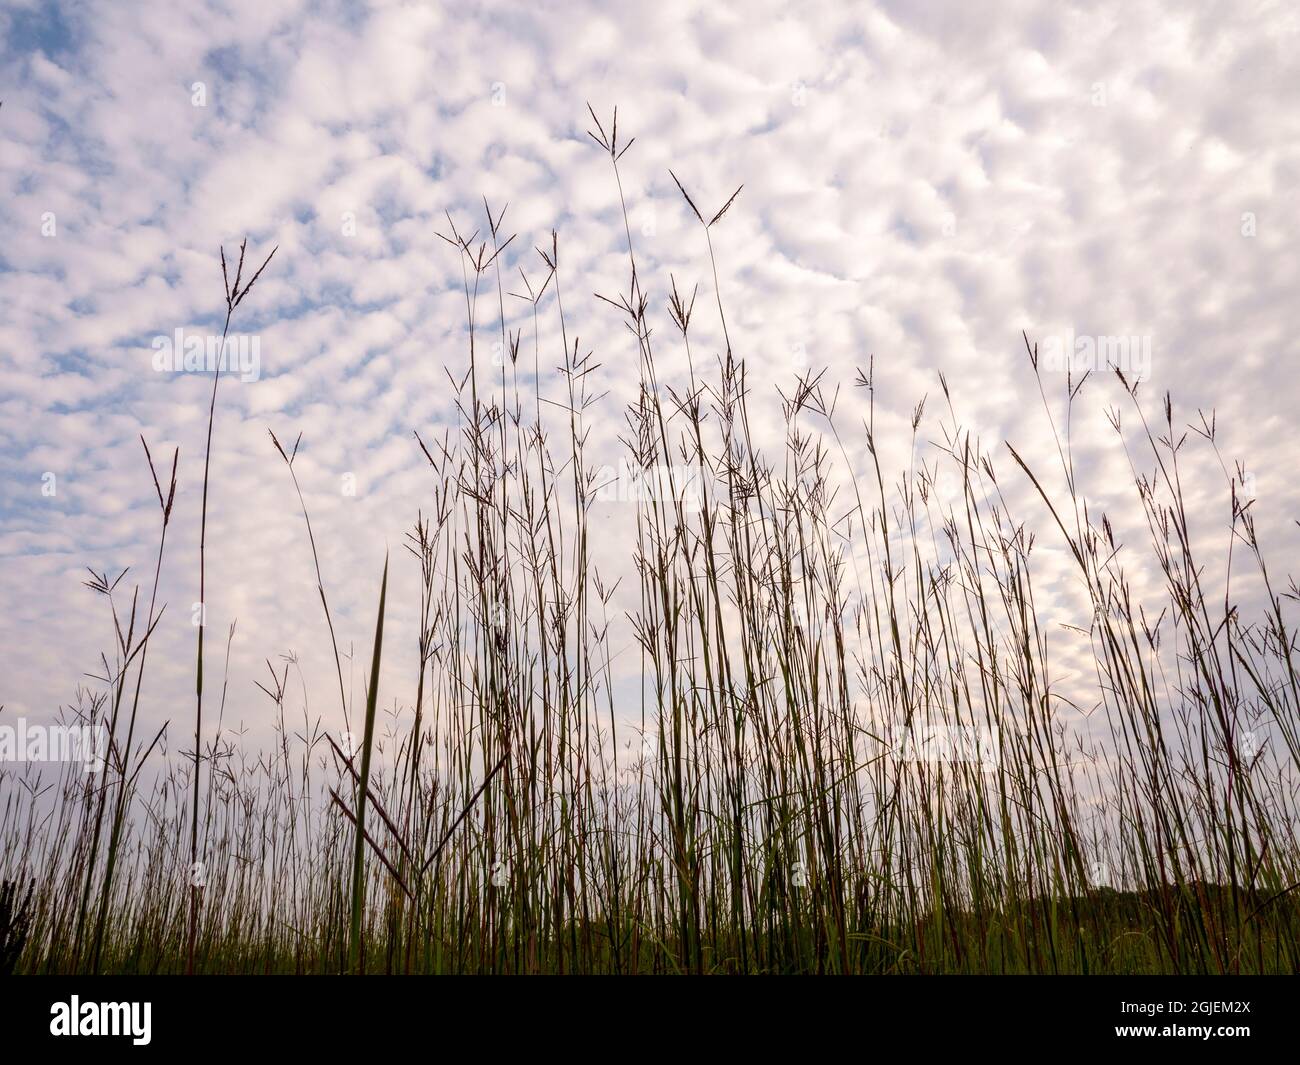
<svg viewBox="0 0 1300 1065">
<path fill-rule="evenodd" d="M 482 196 L 508 202 L 511 269 L 534 276 L 532 248 L 559 230 L 566 312 L 608 390 L 593 447 L 616 460 L 636 348 L 593 295 L 620 285 L 625 250 L 588 101 L 602 117 L 618 105 L 637 138 L 623 179 L 662 329 L 670 273 L 712 294 L 668 168 L 706 209 L 744 183 L 715 244 L 755 403 L 775 410 L 802 367 L 848 386 L 874 355 L 880 432 L 904 460 L 940 371 L 994 454 L 1002 440 L 1041 454 L 1020 332 L 1140 337 L 1153 407 L 1171 389 L 1184 423 L 1217 408 L 1274 564 L 1300 542 L 1288 4 L 6 0 L 0 38 L 6 714 L 44 718 L 92 683 L 113 635 L 86 567 L 131 567 L 122 586 L 148 592 L 143 434 L 160 466 L 179 447 L 144 713 L 191 719 L 211 377 L 159 372 L 153 355 L 177 329 L 220 332 L 222 244 L 247 235 L 259 261 L 280 248 L 234 326 L 257 338 L 256 380 L 224 378 L 214 428 L 209 654 L 238 619 L 228 719 L 264 724 L 252 680 L 266 658 L 300 655 L 322 711 L 332 683 L 268 428 L 303 433 L 296 469 L 342 642 L 368 651 L 384 553 L 430 498 L 412 430 L 454 424 L 443 367 L 465 365 L 460 265 L 436 237 L 448 212 L 472 231 Z M 666 358 L 666 375 L 681 369 Z M 543 394 L 560 389 L 542 376 Z M 1104 416 L 1119 399 L 1098 381 L 1075 425 L 1084 485 L 1108 506 L 1131 494 Z M 1204 449 L 1196 462 L 1213 467 Z M 1210 473 L 1190 490 L 1222 555 L 1226 490 Z M 394 564 L 382 696 L 400 703 L 417 571 Z"/>
</svg>

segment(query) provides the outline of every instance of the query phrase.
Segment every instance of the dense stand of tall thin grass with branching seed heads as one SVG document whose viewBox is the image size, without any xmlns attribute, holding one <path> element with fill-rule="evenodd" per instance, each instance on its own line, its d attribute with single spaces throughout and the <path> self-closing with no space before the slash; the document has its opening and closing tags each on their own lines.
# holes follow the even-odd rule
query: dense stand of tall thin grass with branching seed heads
<svg viewBox="0 0 1300 1065">
<path fill-rule="evenodd" d="M 592 118 L 621 203 L 630 142 L 616 114 L 608 129 Z M 602 573 L 611 553 L 593 549 L 607 472 L 588 436 L 608 402 L 564 309 L 577 282 L 559 235 L 532 277 L 511 264 L 511 293 L 504 211 L 485 203 L 482 242 L 448 217 L 467 351 L 447 368 L 455 430 L 415 434 L 430 481 L 407 542 L 420 603 L 408 723 L 376 743 L 385 567 L 359 766 L 306 697 L 300 727 L 286 724 L 303 687 L 291 659 L 259 685 L 277 743 L 247 752 L 218 728 L 200 758 L 200 627 L 192 758 L 142 775 L 160 746 L 134 733 L 147 636 L 134 635 L 134 599 L 122 635 L 122 593 L 96 576 L 116 663 L 105 657 L 103 690 L 82 690 L 72 713 L 107 724 L 110 769 L 98 783 L 0 771 L 0 873 L 36 882 L 21 971 L 1296 971 L 1287 603 L 1300 593 L 1275 585 L 1226 466 L 1234 577 L 1206 584 L 1182 468 L 1190 441 L 1222 464 L 1213 417 L 1186 430 L 1165 397 L 1148 421 L 1117 373 L 1126 410 L 1110 417 L 1149 538 L 1136 563 L 1075 469 L 1072 412 L 1096 382 L 1049 372 L 1028 339 L 1054 455 L 988 450 L 941 378 L 942 408 L 913 411 L 913 458 L 889 482 L 868 364 L 853 382 L 861 432 L 837 416 L 826 372 L 805 372 L 781 385 L 783 442 L 764 456 L 750 398 L 768 382 L 751 380 L 719 286 L 740 190 L 708 212 L 673 181 L 699 224 L 712 307 L 670 280 L 672 329 L 654 328 L 662 296 L 644 283 L 624 205 L 627 287 L 593 311 L 636 345 L 621 440 L 653 489 L 620 571 Z M 716 351 L 699 339 L 705 313 Z M 493 335 L 495 360 L 482 358 Z M 667 378 L 668 362 L 685 376 Z M 213 408 L 214 393 L 216 381 Z M 923 425 L 937 446 L 923 446 Z M 316 537 L 292 456 L 274 446 L 307 521 L 346 722 Z M 1011 479 L 1032 512 L 1011 512 Z M 170 507 L 169 495 L 164 531 Z M 1036 592 L 1046 541 L 1091 610 L 1078 635 L 1092 702 L 1078 707 Z M 1231 584 L 1243 563 L 1261 589 L 1254 620 Z M 1126 564 L 1157 575 L 1160 593 L 1144 596 Z M 146 632 L 160 614 L 151 597 Z M 620 624 L 640 654 L 630 676 Z M 1097 726 L 1067 730 L 1083 713 Z M 205 860 L 202 888 L 186 836 L 190 861 Z M 68 884 L 83 886 L 79 904 Z"/>
</svg>

